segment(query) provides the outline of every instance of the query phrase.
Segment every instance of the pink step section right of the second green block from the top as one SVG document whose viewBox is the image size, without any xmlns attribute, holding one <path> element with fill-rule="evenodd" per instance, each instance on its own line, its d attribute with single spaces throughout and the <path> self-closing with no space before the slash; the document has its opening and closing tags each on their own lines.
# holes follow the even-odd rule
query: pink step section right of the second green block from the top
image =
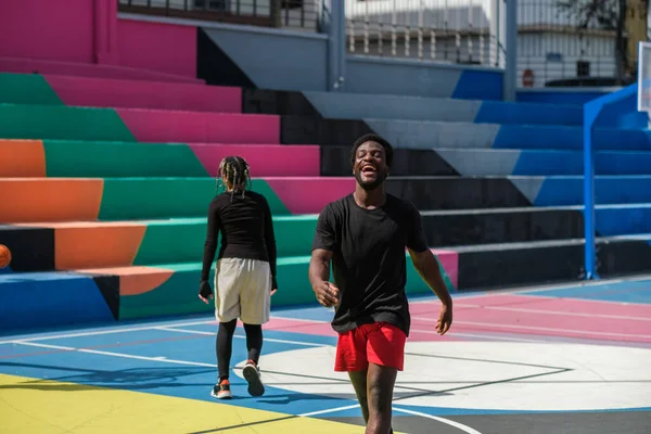
<svg viewBox="0 0 651 434">
<path fill-rule="evenodd" d="M 280 116 L 115 108 L 141 142 L 280 143 Z"/>
</svg>

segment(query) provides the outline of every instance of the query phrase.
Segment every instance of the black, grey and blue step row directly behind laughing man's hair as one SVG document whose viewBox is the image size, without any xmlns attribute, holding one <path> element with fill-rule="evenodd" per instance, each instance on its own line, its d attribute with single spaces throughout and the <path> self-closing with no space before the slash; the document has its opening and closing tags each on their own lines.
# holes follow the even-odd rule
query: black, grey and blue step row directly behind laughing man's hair
<svg viewBox="0 0 651 434">
<path fill-rule="evenodd" d="M 583 149 L 580 126 L 376 118 L 346 120 L 301 115 L 286 115 L 281 118 L 281 137 L 285 144 L 342 145 L 353 143 L 361 135 L 375 132 L 388 140 L 394 148 L 406 149 Z M 593 140 L 598 150 L 651 150 L 651 132 L 648 130 L 597 128 Z"/>
</svg>

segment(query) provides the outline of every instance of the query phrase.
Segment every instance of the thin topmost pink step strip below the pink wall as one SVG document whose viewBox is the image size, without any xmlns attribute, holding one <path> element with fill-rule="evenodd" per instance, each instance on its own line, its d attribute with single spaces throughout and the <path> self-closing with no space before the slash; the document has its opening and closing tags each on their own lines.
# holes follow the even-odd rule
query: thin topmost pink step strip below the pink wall
<svg viewBox="0 0 651 434">
<path fill-rule="evenodd" d="M 95 65 L 89 63 L 48 61 L 41 59 L 0 58 L 0 72 L 15 74 L 58 74 L 79 77 L 123 78 L 127 80 L 158 80 L 205 84 L 192 77 L 138 69 L 127 66 Z"/>
</svg>

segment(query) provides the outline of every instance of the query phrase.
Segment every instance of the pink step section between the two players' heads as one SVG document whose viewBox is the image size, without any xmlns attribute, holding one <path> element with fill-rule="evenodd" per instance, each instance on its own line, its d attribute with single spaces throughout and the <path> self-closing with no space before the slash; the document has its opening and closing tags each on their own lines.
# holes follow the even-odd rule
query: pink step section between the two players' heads
<svg viewBox="0 0 651 434">
<path fill-rule="evenodd" d="M 329 202 L 355 191 L 353 177 L 265 177 L 265 180 L 292 214 L 318 214 Z"/>
</svg>

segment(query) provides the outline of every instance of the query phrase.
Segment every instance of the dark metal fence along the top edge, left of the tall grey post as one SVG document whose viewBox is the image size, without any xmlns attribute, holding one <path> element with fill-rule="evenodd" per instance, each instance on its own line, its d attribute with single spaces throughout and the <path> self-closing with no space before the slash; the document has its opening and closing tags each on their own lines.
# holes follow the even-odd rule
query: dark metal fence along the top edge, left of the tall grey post
<svg viewBox="0 0 651 434">
<path fill-rule="evenodd" d="M 321 0 L 117 0 L 118 11 L 321 31 Z"/>
</svg>

